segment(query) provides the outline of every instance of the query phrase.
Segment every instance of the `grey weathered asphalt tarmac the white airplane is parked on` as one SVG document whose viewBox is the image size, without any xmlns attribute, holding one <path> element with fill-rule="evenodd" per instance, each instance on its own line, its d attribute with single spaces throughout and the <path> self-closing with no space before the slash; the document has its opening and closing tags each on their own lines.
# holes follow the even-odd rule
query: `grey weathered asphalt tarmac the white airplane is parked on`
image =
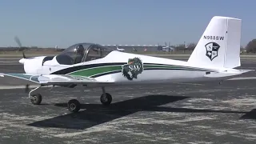
<svg viewBox="0 0 256 144">
<path fill-rule="evenodd" d="M 4 61 L 4 60 L 3 60 Z M 0 62 L 1 72 L 23 73 L 18 62 Z M 256 69 L 256 60 L 241 69 Z M 255 77 L 255 72 L 241 77 Z M 17 80 L 17 79 L 15 79 Z M 26 81 L 2 79 L 2 86 Z M 99 101 L 100 88 L 42 91 L 34 106 L 23 89 L 0 90 L 0 143 L 254 144 L 256 79 L 171 85 L 107 87 L 113 104 Z M 3 89 L 3 88 L 2 88 Z M 78 98 L 71 114 L 66 102 Z"/>
</svg>

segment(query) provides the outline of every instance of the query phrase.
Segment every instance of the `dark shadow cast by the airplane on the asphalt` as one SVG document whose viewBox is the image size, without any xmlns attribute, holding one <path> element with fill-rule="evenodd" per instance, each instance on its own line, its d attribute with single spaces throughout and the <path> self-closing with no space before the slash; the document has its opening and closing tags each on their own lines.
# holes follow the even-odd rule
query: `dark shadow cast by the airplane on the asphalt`
<svg viewBox="0 0 256 144">
<path fill-rule="evenodd" d="M 185 98 L 184 96 L 169 95 L 148 95 L 140 98 L 134 98 L 123 102 L 115 102 L 110 106 L 102 106 L 102 104 L 81 104 L 78 113 L 70 113 L 58 117 L 45 119 L 38 122 L 28 124 L 28 126 L 36 127 L 55 127 L 84 130 L 92 126 L 97 126 L 104 122 L 110 122 L 117 118 L 122 118 L 138 111 L 161 111 L 161 112 L 178 112 L 178 113 L 238 113 L 247 114 L 247 112 L 229 111 L 229 110 L 196 110 L 186 108 L 164 107 L 170 102 L 177 102 Z M 55 106 L 66 107 L 66 103 L 57 103 Z M 254 112 L 255 115 L 255 112 Z M 247 118 L 250 118 L 250 116 Z M 251 117 L 252 118 L 252 117 Z M 256 118 L 254 118 L 256 119 Z"/>
</svg>

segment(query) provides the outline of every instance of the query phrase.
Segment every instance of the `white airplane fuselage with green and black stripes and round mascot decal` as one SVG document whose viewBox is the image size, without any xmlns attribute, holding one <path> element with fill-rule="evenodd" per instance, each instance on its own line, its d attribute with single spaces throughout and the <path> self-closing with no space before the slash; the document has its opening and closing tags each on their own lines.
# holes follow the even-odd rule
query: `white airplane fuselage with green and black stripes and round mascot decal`
<svg viewBox="0 0 256 144">
<path fill-rule="evenodd" d="M 98 81 L 114 82 L 113 85 L 137 85 L 148 83 L 200 82 L 210 79 L 223 80 L 236 75 L 236 70 L 226 71 L 225 77 L 215 78 L 218 67 L 196 67 L 188 62 L 157 58 L 141 54 L 112 51 L 105 58 L 98 58 L 75 65 L 60 65 L 56 57 L 42 62 L 45 56 L 26 59 L 26 74 L 65 74 L 95 78 Z M 22 61 L 22 60 L 21 60 Z M 40 65 L 42 63 L 42 65 Z M 227 70 L 227 69 L 226 69 Z M 228 74 L 228 75 L 226 75 Z"/>
</svg>

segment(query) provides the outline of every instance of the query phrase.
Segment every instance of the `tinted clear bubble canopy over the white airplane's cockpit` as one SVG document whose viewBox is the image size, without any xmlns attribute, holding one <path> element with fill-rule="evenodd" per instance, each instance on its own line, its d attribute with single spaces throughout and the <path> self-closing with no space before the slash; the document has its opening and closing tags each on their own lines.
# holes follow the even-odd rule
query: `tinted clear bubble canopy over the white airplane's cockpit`
<svg viewBox="0 0 256 144">
<path fill-rule="evenodd" d="M 63 50 L 56 56 L 56 60 L 62 65 L 74 65 L 80 62 L 104 58 L 112 49 L 94 43 L 78 43 Z"/>
</svg>

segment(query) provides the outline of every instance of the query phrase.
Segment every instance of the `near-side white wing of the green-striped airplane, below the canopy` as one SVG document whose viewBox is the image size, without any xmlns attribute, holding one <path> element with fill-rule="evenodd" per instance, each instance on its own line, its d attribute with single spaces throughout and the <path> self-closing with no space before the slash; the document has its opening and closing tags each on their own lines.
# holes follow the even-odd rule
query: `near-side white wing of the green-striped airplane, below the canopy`
<svg viewBox="0 0 256 144">
<path fill-rule="evenodd" d="M 42 85 L 87 85 L 87 84 L 106 84 L 113 83 L 107 81 L 97 81 L 95 78 L 83 77 L 78 75 L 62 74 L 0 74 L 0 77 L 10 76 L 21 78 L 30 82 L 36 82 Z"/>
</svg>

